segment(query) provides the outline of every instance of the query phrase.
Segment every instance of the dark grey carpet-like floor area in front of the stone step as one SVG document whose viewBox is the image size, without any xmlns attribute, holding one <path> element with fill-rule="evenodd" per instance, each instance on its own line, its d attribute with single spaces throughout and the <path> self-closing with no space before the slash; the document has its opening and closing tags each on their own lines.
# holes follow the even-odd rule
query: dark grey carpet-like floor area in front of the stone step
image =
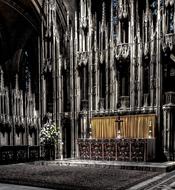
<svg viewBox="0 0 175 190">
<path fill-rule="evenodd" d="M 0 166 L 0 182 L 53 189 L 127 189 L 159 172 L 122 170 L 110 167 L 16 164 Z"/>
</svg>

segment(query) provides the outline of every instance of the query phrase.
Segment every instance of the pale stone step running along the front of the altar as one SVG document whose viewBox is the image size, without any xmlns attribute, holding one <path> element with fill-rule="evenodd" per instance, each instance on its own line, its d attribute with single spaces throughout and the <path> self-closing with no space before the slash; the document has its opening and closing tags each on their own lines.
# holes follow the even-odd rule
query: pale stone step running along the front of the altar
<svg viewBox="0 0 175 190">
<path fill-rule="evenodd" d="M 36 165 L 59 165 L 59 166 L 78 166 L 90 168 L 117 168 L 126 170 L 141 170 L 153 172 L 169 172 L 175 169 L 175 162 L 121 162 L 121 161 L 96 161 L 96 160 L 74 160 L 63 159 L 54 161 L 37 161 Z"/>
</svg>

